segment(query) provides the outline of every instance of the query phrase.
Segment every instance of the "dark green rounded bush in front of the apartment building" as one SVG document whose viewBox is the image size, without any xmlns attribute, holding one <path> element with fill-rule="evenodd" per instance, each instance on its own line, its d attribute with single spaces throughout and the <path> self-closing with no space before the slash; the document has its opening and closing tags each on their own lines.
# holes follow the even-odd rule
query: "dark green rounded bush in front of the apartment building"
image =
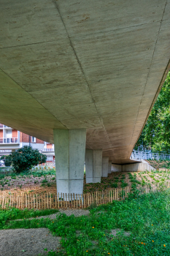
<svg viewBox="0 0 170 256">
<path fill-rule="evenodd" d="M 44 154 L 39 153 L 38 149 L 33 149 L 31 146 L 23 146 L 12 152 L 11 158 L 17 173 L 28 172 L 35 165 L 45 163 L 47 159 Z"/>
</svg>

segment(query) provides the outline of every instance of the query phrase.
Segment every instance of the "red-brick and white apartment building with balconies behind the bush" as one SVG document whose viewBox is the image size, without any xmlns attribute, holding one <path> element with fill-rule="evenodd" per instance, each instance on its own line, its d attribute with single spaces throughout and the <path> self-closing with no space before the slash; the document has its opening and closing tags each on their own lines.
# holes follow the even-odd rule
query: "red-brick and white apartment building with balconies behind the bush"
<svg viewBox="0 0 170 256">
<path fill-rule="evenodd" d="M 47 156 L 48 163 L 54 164 L 55 153 L 53 144 L 26 135 L 23 132 L 19 132 L 17 129 L 7 127 L 7 125 L 0 124 L 0 157 L 10 154 L 12 151 L 22 148 L 23 146 L 37 148 L 40 153 Z"/>
</svg>

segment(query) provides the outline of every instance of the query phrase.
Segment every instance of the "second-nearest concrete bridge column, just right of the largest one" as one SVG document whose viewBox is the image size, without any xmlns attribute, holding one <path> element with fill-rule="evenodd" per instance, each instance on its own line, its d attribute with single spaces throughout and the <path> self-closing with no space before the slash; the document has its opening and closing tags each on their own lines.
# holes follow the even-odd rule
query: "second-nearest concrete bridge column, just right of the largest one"
<svg viewBox="0 0 170 256">
<path fill-rule="evenodd" d="M 101 182 L 102 149 L 85 150 L 85 176 L 86 183 Z"/>
</svg>

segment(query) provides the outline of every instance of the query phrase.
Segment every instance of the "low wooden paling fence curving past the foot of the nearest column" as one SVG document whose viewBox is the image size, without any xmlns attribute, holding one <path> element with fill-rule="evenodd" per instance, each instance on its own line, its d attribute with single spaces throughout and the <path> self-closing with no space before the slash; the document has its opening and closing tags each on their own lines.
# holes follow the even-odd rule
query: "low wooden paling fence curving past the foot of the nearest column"
<svg viewBox="0 0 170 256">
<path fill-rule="evenodd" d="M 158 187 L 137 187 L 140 194 L 150 191 L 157 191 Z M 0 208 L 88 208 L 90 206 L 99 206 L 106 203 L 112 203 L 113 200 L 124 200 L 131 192 L 131 187 L 124 189 L 106 189 L 102 191 L 89 192 L 83 195 L 66 193 L 13 193 L 11 195 L 0 194 Z"/>
</svg>

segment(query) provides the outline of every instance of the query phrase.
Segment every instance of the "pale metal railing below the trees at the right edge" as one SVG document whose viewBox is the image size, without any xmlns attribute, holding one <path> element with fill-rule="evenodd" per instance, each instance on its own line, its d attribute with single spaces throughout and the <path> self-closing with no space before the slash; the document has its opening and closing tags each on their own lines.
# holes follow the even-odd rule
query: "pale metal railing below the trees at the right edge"
<svg viewBox="0 0 170 256">
<path fill-rule="evenodd" d="M 155 160 L 166 160 L 170 159 L 169 154 L 160 154 L 160 153 L 152 153 L 145 151 L 136 151 L 133 150 L 131 153 L 131 159 L 141 160 L 141 159 L 155 159 Z"/>
</svg>

